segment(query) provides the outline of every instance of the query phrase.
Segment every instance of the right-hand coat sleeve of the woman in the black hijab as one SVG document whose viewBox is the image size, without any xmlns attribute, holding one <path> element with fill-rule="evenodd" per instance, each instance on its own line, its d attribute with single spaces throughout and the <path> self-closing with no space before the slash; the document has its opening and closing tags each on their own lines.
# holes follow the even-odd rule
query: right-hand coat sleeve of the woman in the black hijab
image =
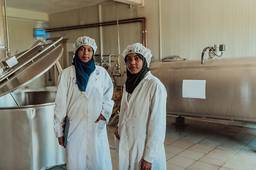
<svg viewBox="0 0 256 170">
<path fill-rule="evenodd" d="M 161 82 L 156 84 L 156 89 L 151 98 L 151 115 L 149 118 L 146 137 L 144 159 L 146 157 L 159 157 L 164 145 L 166 135 L 166 89 Z"/>
</svg>

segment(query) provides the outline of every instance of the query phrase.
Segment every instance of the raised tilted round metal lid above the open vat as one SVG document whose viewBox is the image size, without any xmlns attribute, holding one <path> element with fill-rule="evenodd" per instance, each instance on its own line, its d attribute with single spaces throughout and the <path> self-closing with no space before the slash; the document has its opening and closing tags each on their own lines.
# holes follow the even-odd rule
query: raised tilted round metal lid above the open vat
<svg viewBox="0 0 256 170">
<path fill-rule="evenodd" d="M 0 61 L 0 97 L 30 83 L 58 62 L 63 47 L 38 40 L 30 49 Z"/>
</svg>

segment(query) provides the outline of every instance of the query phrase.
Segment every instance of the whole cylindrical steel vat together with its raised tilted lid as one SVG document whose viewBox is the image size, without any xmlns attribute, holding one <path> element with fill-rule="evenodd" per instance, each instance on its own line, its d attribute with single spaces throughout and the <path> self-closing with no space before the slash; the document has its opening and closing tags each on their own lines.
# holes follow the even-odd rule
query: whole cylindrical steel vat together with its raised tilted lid
<svg viewBox="0 0 256 170">
<path fill-rule="evenodd" d="M 62 38 L 54 43 L 46 40 L 1 61 L 0 169 L 48 169 L 65 164 L 65 149 L 58 145 L 53 131 L 55 92 L 11 93 L 60 59 L 63 47 L 58 42 Z"/>
</svg>

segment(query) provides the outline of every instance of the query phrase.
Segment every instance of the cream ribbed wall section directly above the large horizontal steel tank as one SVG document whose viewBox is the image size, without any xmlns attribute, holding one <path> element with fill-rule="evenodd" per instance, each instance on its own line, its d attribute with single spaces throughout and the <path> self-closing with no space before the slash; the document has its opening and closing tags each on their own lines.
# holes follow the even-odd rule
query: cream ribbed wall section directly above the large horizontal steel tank
<svg viewBox="0 0 256 170">
<path fill-rule="evenodd" d="M 162 0 L 163 57 L 199 60 L 215 44 L 225 44 L 223 58 L 255 56 L 255 6 L 253 0 Z"/>
</svg>

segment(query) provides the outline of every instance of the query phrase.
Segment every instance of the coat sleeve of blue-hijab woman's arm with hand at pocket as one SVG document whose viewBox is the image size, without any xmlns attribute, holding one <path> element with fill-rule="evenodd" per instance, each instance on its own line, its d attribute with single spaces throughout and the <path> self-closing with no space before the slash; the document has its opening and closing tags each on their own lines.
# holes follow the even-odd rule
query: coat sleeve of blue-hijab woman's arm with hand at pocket
<svg viewBox="0 0 256 170">
<path fill-rule="evenodd" d="M 108 121 L 110 120 L 110 116 L 112 114 L 114 101 L 112 101 L 113 84 L 107 71 L 105 71 L 105 80 L 103 81 L 103 83 L 103 103 L 101 114 L 106 119 L 106 123 L 108 123 Z"/>
</svg>

